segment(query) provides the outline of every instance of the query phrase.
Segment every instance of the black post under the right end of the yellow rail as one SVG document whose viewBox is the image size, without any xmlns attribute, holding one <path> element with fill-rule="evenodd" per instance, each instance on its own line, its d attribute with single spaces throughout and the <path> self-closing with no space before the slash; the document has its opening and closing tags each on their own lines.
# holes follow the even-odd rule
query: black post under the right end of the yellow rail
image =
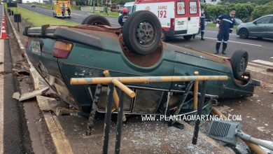
<svg viewBox="0 0 273 154">
<path fill-rule="evenodd" d="M 206 88 L 207 88 L 207 82 L 206 82 L 206 80 L 203 80 L 201 97 L 200 97 L 200 101 L 198 103 L 198 109 L 197 109 L 198 118 L 195 121 L 195 130 L 193 132 L 192 144 L 194 144 L 194 145 L 197 144 L 197 138 L 198 138 L 198 133 L 199 133 L 199 125 L 200 125 L 200 121 L 201 121 L 202 109 L 203 109 L 203 106 L 204 106 L 204 97 L 205 97 L 205 94 L 206 94 Z"/>
</svg>

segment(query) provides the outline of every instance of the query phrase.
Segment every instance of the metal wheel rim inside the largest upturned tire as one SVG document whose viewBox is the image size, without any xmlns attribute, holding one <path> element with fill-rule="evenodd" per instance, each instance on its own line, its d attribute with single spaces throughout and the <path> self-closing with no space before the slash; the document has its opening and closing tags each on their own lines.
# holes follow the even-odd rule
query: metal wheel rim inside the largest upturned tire
<svg viewBox="0 0 273 154">
<path fill-rule="evenodd" d="M 148 46 L 155 39 L 155 28 L 150 22 L 141 22 L 137 27 L 137 41 L 142 46 Z"/>
</svg>

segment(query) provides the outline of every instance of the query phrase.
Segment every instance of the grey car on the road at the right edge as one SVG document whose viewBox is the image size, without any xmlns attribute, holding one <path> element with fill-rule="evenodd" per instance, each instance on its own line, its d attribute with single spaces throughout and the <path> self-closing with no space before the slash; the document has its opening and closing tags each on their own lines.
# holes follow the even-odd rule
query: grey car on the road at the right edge
<svg viewBox="0 0 273 154">
<path fill-rule="evenodd" d="M 239 25 L 237 35 L 244 39 L 248 37 L 273 38 L 273 14 Z"/>
</svg>

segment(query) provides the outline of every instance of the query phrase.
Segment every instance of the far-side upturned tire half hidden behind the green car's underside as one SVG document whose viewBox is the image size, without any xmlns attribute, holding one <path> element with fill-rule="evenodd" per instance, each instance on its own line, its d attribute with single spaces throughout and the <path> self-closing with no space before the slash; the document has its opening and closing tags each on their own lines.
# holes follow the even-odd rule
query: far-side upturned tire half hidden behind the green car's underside
<svg viewBox="0 0 273 154">
<path fill-rule="evenodd" d="M 89 15 L 81 22 L 82 25 L 106 25 L 110 26 L 110 22 L 102 15 Z"/>
</svg>

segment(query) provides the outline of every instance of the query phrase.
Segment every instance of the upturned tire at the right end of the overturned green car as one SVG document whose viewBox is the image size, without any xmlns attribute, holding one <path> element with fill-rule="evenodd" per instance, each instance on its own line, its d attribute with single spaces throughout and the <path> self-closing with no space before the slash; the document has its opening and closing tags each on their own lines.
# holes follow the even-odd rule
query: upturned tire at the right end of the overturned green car
<svg viewBox="0 0 273 154">
<path fill-rule="evenodd" d="M 230 58 L 230 63 L 232 66 L 233 75 L 237 79 L 241 79 L 246 71 L 246 66 L 248 64 L 248 52 L 245 50 L 237 50 L 233 53 Z"/>
</svg>

